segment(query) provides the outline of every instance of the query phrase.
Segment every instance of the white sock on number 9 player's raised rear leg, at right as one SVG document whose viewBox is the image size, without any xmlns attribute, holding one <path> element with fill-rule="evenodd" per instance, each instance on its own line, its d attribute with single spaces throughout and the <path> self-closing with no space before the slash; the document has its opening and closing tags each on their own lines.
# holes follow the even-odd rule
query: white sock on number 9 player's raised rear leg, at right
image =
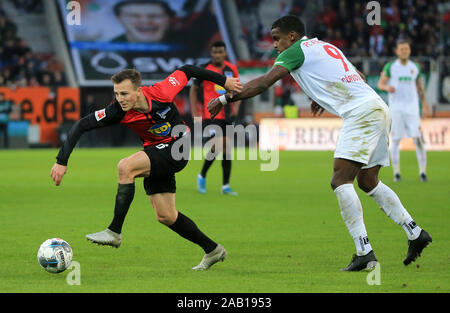
<svg viewBox="0 0 450 313">
<path fill-rule="evenodd" d="M 416 225 L 411 215 L 403 207 L 397 194 L 391 188 L 380 180 L 378 185 L 367 194 L 375 200 L 387 216 L 405 230 L 409 240 L 419 237 L 422 229 Z"/>
</svg>

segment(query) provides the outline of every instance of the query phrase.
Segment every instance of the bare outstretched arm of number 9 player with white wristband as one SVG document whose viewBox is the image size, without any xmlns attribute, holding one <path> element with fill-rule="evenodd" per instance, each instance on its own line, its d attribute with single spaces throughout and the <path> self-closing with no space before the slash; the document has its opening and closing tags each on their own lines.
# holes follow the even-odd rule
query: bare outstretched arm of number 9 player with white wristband
<svg viewBox="0 0 450 313">
<path fill-rule="evenodd" d="M 268 73 L 249 81 L 244 85 L 244 89 L 240 93 L 233 93 L 222 95 L 218 98 L 212 99 L 208 103 L 208 111 L 211 113 L 211 118 L 214 118 L 226 103 L 233 101 L 244 100 L 266 91 L 277 80 L 288 75 L 289 71 L 282 66 L 274 66 Z"/>
</svg>

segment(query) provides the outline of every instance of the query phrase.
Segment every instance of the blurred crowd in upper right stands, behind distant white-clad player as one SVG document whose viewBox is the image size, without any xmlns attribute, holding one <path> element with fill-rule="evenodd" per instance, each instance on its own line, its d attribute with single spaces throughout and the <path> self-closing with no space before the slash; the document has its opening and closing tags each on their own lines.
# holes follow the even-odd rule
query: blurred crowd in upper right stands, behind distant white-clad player
<svg viewBox="0 0 450 313">
<path fill-rule="evenodd" d="M 440 19 L 438 0 L 385 0 L 380 25 L 369 25 L 369 11 L 361 1 L 325 1 L 317 15 L 316 34 L 348 56 L 392 56 L 398 39 L 411 42 L 413 56 L 436 57 Z M 369 16 L 370 20 L 370 16 Z"/>
</svg>

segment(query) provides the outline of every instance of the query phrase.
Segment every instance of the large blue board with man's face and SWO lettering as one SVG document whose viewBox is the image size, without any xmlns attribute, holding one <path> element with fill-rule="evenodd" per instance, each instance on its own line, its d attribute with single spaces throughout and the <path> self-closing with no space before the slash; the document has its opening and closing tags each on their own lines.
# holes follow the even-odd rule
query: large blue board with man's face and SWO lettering
<svg viewBox="0 0 450 313">
<path fill-rule="evenodd" d="M 235 59 L 218 1 L 78 2 L 79 25 L 70 25 L 64 19 L 67 1 L 58 1 L 81 86 L 109 86 L 110 77 L 125 68 L 137 69 L 143 83 L 152 84 L 184 64 L 205 63 L 218 39 Z"/>
</svg>

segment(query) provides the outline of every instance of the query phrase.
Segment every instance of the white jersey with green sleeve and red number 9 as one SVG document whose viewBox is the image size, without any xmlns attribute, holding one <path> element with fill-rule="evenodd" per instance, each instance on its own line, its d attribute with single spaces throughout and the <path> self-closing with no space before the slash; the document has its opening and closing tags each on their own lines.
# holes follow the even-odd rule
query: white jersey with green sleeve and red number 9
<svg viewBox="0 0 450 313">
<path fill-rule="evenodd" d="M 280 53 L 274 66 L 283 66 L 311 99 L 343 117 L 352 109 L 380 96 L 359 76 L 334 45 L 303 37 Z"/>
</svg>

